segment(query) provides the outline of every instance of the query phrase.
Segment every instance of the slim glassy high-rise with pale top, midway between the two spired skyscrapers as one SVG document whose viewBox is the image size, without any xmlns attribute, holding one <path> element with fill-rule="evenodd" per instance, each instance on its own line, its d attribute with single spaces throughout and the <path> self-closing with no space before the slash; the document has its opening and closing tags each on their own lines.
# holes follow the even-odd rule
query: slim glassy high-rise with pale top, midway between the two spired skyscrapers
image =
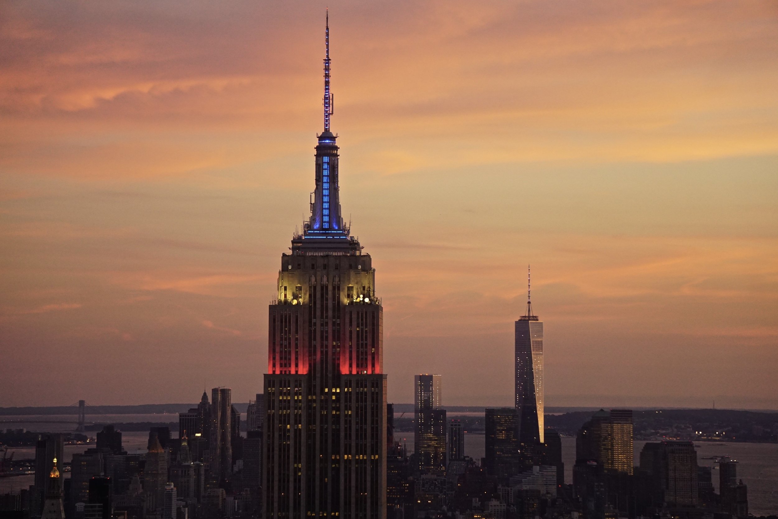
<svg viewBox="0 0 778 519">
<path fill-rule="evenodd" d="M 446 410 L 442 409 L 440 375 L 415 376 L 414 455 L 419 472 L 446 472 Z"/>
</svg>

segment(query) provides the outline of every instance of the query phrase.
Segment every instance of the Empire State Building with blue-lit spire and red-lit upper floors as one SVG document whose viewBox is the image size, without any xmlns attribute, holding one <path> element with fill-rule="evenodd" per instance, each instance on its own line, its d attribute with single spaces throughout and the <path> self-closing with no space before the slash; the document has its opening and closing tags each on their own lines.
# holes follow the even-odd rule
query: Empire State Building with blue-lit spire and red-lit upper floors
<svg viewBox="0 0 778 519">
<path fill-rule="evenodd" d="M 324 132 L 310 219 L 282 254 L 268 309 L 263 517 L 382 519 L 383 310 L 370 254 L 341 215 L 329 23 L 324 34 Z"/>
</svg>

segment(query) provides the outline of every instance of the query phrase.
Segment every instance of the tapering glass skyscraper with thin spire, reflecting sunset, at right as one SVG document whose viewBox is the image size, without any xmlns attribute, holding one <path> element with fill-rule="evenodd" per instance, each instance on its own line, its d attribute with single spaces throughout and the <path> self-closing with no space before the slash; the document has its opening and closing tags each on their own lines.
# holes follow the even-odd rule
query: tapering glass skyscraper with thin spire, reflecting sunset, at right
<svg viewBox="0 0 778 519">
<path fill-rule="evenodd" d="M 516 411 L 523 451 L 544 442 L 543 323 L 532 313 L 527 274 L 527 313 L 516 321 Z"/>
</svg>

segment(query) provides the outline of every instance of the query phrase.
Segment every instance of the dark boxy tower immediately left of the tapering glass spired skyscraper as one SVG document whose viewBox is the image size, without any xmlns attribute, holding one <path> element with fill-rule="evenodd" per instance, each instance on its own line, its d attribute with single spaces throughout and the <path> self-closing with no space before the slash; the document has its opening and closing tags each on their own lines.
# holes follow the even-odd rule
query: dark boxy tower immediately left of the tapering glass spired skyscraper
<svg viewBox="0 0 778 519">
<path fill-rule="evenodd" d="M 485 412 L 486 472 L 507 479 L 520 472 L 519 413 L 513 408 Z"/>
</svg>

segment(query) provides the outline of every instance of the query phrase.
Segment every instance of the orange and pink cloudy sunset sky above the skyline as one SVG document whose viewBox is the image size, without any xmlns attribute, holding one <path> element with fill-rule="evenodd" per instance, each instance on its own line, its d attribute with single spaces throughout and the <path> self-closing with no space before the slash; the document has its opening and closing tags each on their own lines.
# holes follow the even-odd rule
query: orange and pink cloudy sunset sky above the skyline
<svg viewBox="0 0 778 519">
<path fill-rule="evenodd" d="M 778 409 L 778 2 L 328 0 L 389 402 Z M 0 4 L 0 406 L 233 402 L 308 214 L 323 2 Z"/>
</svg>

